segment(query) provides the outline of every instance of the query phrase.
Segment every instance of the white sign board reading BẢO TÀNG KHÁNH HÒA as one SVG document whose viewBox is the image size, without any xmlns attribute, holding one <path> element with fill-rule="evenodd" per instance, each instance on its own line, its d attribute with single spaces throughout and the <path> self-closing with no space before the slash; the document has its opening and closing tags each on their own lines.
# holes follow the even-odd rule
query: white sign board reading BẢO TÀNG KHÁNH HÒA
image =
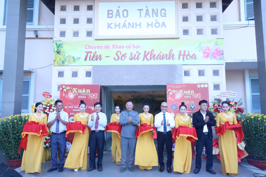
<svg viewBox="0 0 266 177">
<path fill-rule="evenodd" d="M 95 5 L 95 39 L 178 37 L 176 1 L 96 0 Z"/>
</svg>

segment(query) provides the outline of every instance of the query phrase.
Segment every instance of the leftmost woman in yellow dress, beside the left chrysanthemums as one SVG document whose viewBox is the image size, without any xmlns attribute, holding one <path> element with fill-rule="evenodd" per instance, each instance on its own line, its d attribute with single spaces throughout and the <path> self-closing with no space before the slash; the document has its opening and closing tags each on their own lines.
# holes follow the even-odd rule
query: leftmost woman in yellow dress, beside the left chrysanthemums
<svg viewBox="0 0 266 177">
<path fill-rule="evenodd" d="M 43 105 L 38 102 L 35 104 L 35 113 L 31 114 L 29 121 L 39 122 L 47 125 L 47 116 L 42 113 Z M 22 156 L 21 170 L 25 173 L 40 173 L 41 159 L 43 157 L 44 137 L 37 135 L 28 135 L 27 150 L 24 150 Z"/>
</svg>

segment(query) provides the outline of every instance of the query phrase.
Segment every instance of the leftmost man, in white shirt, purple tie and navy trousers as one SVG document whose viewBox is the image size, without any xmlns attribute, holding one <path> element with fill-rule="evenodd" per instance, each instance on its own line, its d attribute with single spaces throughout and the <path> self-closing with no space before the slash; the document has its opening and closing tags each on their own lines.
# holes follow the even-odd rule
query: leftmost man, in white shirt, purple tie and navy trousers
<svg viewBox="0 0 266 177">
<path fill-rule="evenodd" d="M 47 125 L 50 126 L 51 134 L 51 162 L 52 168 L 47 172 L 57 170 L 58 172 L 63 171 L 64 159 L 65 159 L 65 148 L 66 148 L 66 124 L 68 124 L 68 113 L 63 111 L 63 102 L 61 100 L 55 101 L 56 111 L 52 112 L 48 116 Z M 57 151 L 59 146 L 59 164 L 57 163 Z"/>
</svg>

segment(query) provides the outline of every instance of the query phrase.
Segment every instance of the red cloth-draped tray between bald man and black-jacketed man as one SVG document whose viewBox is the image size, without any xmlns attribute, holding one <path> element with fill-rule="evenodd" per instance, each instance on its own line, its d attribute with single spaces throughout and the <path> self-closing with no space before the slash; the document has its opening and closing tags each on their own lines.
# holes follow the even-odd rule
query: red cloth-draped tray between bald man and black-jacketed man
<svg viewBox="0 0 266 177">
<path fill-rule="evenodd" d="M 191 137 L 191 136 L 186 137 L 186 139 L 190 142 L 195 142 L 195 140 L 198 139 L 196 129 L 194 127 L 192 128 L 192 127 L 188 127 L 185 125 L 176 127 L 176 129 L 174 130 L 172 138 L 177 139 L 177 137 L 179 137 L 179 136 L 186 136 L 186 135 L 193 136 L 193 137 Z"/>
</svg>

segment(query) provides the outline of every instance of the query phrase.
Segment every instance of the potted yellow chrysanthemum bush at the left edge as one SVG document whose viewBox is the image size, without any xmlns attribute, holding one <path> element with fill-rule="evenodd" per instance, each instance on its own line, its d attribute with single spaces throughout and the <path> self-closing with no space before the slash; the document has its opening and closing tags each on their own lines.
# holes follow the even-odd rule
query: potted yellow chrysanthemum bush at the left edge
<svg viewBox="0 0 266 177">
<path fill-rule="evenodd" d="M 7 158 L 9 165 L 16 169 L 21 166 L 23 149 L 18 153 L 21 132 L 29 115 L 11 115 L 0 119 L 0 150 Z"/>
</svg>

